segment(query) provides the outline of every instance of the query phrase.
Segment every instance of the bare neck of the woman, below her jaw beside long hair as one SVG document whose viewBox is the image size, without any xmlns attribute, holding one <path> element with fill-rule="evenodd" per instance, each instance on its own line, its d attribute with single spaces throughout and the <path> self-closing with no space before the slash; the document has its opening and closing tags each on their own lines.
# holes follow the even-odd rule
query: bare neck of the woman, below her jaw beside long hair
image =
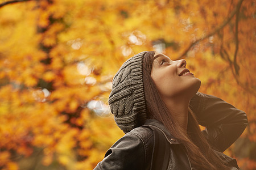
<svg viewBox="0 0 256 170">
<path fill-rule="evenodd" d="M 163 99 L 164 103 L 166 104 L 170 114 L 172 114 L 180 127 L 187 132 L 187 125 L 188 125 L 188 105 L 189 100 L 183 99 Z"/>
</svg>

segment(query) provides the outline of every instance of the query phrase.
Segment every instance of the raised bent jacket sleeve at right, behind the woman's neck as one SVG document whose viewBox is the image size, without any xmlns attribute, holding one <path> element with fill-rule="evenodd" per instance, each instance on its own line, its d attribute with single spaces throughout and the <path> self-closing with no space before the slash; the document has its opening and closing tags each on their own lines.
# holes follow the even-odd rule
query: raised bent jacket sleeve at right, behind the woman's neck
<svg viewBox="0 0 256 170">
<path fill-rule="evenodd" d="M 245 112 L 224 100 L 201 92 L 191 99 L 190 107 L 210 145 L 223 152 L 242 134 L 247 126 Z"/>
</svg>

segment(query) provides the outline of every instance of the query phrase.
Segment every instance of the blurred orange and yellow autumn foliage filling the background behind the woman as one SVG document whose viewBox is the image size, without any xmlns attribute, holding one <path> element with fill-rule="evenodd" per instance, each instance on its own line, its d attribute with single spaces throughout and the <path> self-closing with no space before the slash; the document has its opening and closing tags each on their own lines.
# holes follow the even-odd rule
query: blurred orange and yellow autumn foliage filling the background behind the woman
<svg viewBox="0 0 256 170">
<path fill-rule="evenodd" d="M 123 133 L 113 75 L 158 50 L 247 113 L 225 151 L 256 169 L 255 1 L 0 1 L 0 169 L 93 169 Z M 3 5 L 6 3 L 6 5 Z"/>
</svg>

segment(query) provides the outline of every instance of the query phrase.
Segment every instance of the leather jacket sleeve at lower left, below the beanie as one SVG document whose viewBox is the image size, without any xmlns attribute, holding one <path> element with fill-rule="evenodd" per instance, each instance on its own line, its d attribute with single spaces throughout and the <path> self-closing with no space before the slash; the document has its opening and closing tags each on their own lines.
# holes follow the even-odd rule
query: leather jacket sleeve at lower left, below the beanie
<svg viewBox="0 0 256 170">
<path fill-rule="evenodd" d="M 145 148 L 142 140 L 139 135 L 127 133 L 114 143 L 94 169 L 145 169 Z"/>
</svg>

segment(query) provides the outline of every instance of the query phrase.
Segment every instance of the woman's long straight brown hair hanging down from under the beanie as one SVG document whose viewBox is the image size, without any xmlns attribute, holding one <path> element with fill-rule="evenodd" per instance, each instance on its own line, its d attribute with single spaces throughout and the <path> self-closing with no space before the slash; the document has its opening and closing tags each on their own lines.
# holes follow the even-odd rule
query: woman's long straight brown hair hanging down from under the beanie
<svg viewBox="0 0 256 170">
<path fill-rule="evenodd" d="M 227 165 L 214 153 L 199 128 L 195 114 L 189 109 L 187 132 L 184 131 L 170 114 L 164 104 L 154 81 L 151 78 L 152 63 L 155 52 L 147 52 L 143 59 L 143 82 L 146 97 L 148 118 L 162 122 L 168 131 L 187 148 L 191 164 L 199 169 L 229 169 Z"/>
</svg>

